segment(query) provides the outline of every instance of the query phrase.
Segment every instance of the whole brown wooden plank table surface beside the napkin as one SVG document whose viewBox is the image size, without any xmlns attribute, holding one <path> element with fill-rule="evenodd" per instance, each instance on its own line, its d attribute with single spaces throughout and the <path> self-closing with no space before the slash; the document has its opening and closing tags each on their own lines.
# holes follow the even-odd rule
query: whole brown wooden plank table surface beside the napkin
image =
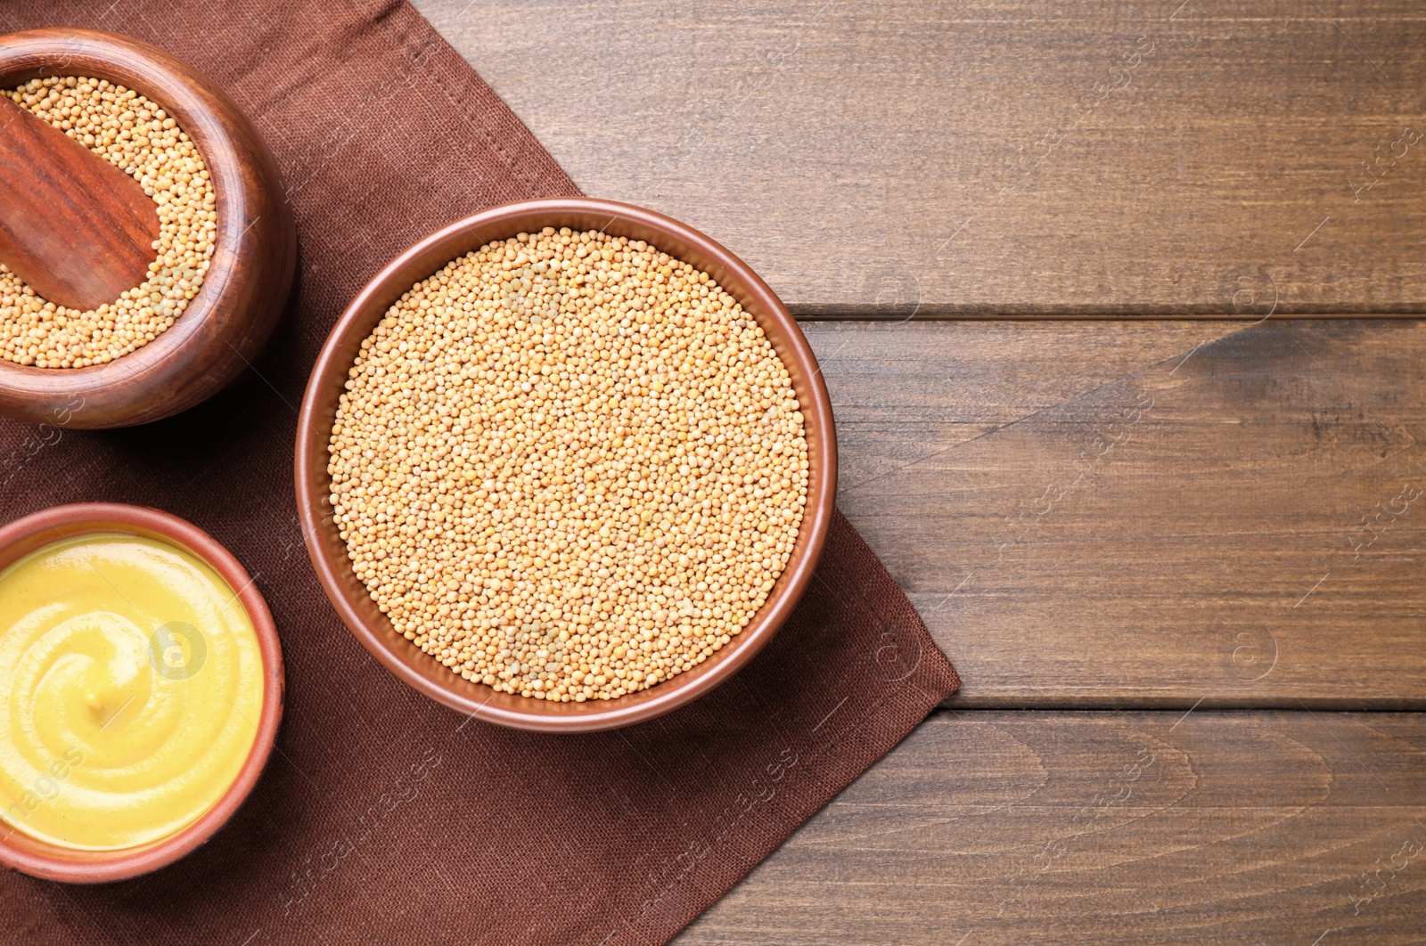
<svg viewBox="0 0 1426 946">
<path fill-rule="evenodd" d="M 806 319 L 965 678 L 680 943 L 1426 942 L 1417 4 L 418 6 Z"/>
</svg>

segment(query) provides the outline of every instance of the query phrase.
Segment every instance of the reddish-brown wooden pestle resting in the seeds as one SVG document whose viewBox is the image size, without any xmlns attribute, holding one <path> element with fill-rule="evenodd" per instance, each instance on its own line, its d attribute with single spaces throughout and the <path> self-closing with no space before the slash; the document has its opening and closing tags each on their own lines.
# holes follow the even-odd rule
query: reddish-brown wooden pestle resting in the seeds
<svg viewBox="0 0 1426 946">
<path fill-rule="evenodd" d="M 0 95 L 0 262 L 87 311 L 147 278 L 155 239 L 158 205 L 138 181 Z"/>
</svg>

